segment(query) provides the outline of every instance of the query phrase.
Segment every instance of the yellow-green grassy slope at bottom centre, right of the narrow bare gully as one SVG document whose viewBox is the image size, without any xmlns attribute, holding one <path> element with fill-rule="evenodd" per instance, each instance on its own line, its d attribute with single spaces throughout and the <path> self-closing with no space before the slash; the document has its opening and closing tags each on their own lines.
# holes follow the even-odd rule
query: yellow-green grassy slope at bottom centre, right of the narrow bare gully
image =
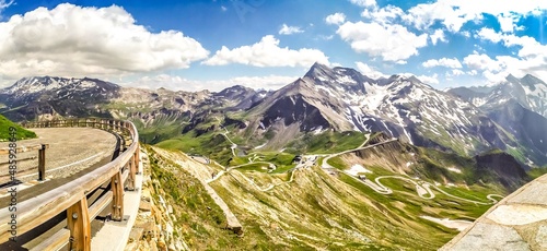
<svg viewBox="0 0 547 251">
<path fill-rule="evenodd" d="M 433 250 L 457 231 L 420 215 L 474 219 L 489 207 L 442 194 L 434 200 L 421 199 L 412 184 L 399 180 L 383 180 L 396 192 L 382 195 L 349 176 L 338 179 L 318 168 L 299 170 L 292 183 L 268 192 L 258 191 L 240 176 L 226 176 L 212 186 L 245 228 L 263 229 L 269 241 L 279 238 L 288 247 Z M 252 176 L 259 183 L 267 175 Z"/>
</svg>

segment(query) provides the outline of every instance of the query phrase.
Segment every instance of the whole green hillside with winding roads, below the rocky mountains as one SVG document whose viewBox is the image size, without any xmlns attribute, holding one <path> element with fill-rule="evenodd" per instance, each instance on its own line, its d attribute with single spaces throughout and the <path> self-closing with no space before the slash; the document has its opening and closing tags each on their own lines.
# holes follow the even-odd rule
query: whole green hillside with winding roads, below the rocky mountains
<svg viewBox="0 0 547 251">
<path fill-rule="evenodd" d="M 371 135 L 366 145 L 385 140 Z M 171 236 L 171 242 L 182 241 L 190 250 L 434 250 L 458 232 L 451 227 L 468 224 L 501 198 L 491 194 L 514 189 L 492 178 L 498 170 L 474 172 L 482 160 L 398 141 L 336 156 L 304 155 L 306 164 L 284 171 L 260 153 L 251 154 L 246 164 L 224 167 L 178 151 L 147 151 L 151 198 L 166 206 L 155 217 L 171 226 L 161 229 L 172 229 L 163 234 L 165 244 Z M 325 162 L 335 169 L 325 169 Z M 269 169 L 270 164 L 277 168 Z M 523 171 L 520 166 L 503 171 L 511 170 Z M 360 179 L 363 175 L 385 190 Z M 222 229 L 225 215 L 203 183 L 242 224 L 240 237 Z M 434 222 L 442 218 L 454 226 Z"/>
</svg>

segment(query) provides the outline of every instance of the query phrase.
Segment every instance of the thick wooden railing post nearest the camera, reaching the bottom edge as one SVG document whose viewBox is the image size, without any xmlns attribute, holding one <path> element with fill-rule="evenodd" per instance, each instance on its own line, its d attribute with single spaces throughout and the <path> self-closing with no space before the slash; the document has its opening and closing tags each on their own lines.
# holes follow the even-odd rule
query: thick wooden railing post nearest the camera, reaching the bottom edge
<svg viewBox="0 0 547 251">
<path fill-rule="evenodd" d="M 91 220 L 85 195 L 67 210 L 69 250 L 91 251 Z"/>
</svg>

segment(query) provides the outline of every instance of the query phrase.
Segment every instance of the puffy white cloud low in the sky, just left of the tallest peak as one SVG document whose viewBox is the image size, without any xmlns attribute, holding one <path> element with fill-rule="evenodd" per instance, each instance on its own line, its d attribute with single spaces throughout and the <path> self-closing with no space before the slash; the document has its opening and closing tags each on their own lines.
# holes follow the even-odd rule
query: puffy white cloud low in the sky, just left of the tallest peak
<svg viewBox="0 0 547 251">
<path fill-rule="evenodd" d="M 328 57 L 317 49 L 292 50 L 279 47 L 279 39 L 267 35 L 252 46 L 229 49 L 222 46 L 214 56 L 202 62 L 208 65 L 241 63 L 254 67 L 310 67 L 314 62 L 328 64 Z"/>
</svg>

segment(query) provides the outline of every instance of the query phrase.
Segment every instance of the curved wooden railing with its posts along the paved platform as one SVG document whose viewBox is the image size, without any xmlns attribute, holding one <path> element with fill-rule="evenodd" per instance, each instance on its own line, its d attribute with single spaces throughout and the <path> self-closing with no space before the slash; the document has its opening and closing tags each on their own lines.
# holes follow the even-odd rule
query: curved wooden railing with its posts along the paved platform
<svg viewBox="0 0 547 251">
<path fill-rule="evenodd" d="M 67 212 L 67 228 L 40 241 L 35 250 L 53 250 L 69 244 L 69 250 L 91 249 L 91 220 L 106 206 L 110 206 L 112 219 L 124 217 L 124 189 L 135 190 L 135 176 L 139 165 L 139 134 L 129 121 L 108 119 L 67 119 L 23 123 L 26 128 L 86 127 L 108 131 L 120 131 L 130 136 L 130 145 L 124 153 L 108 164 L 84 176 L 43 191 L 34 198 L 16 203 L 16 212 L 10 206 L 0 208 L 0 243 L 12 240 L 12 224 L 16 222 L 16 235 L 21 236 L 39 227 L 62 212 Z M 101 187 L 109 184 L 110 191 L 102 192 L 93 204 L 88 196 L 95 194 Z M 32 188 L 30 188 L 32 189 Z M 98 192 L 97 192 L 98 193 Z"/>
</svg>

